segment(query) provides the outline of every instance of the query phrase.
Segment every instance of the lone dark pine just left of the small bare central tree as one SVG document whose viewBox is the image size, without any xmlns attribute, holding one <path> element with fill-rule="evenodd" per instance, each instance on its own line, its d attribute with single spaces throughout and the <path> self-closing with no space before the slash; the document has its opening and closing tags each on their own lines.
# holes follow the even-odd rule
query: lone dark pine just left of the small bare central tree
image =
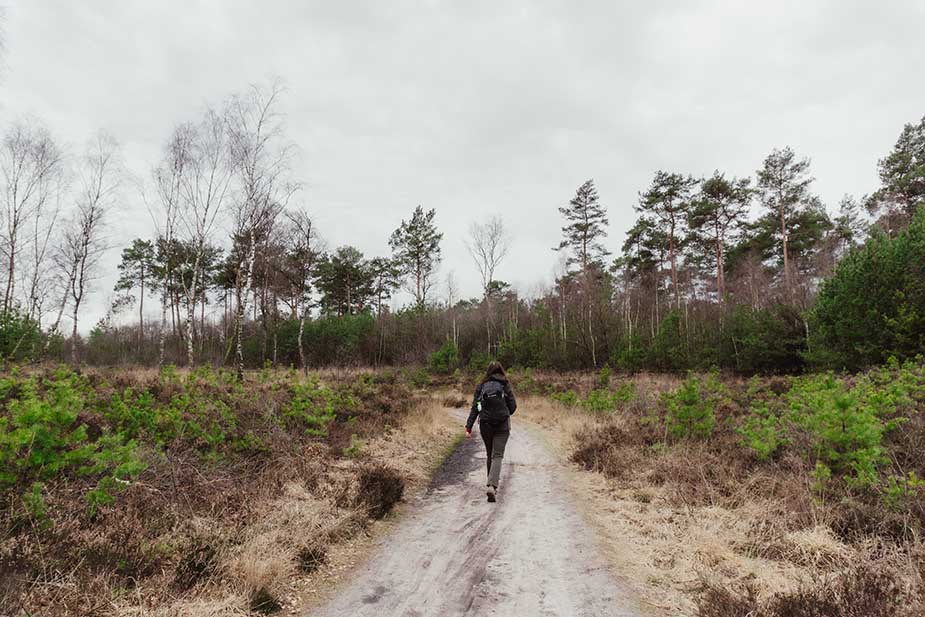
<svg viewBox="0 0 925 617">
<path fill-rule="evenodd" d="M 440 241 L 443 234 L 434 225 L 436 212 L 424 212 L 420 205 L 414 209 L 410 221 L 402 219 L 401 225 L 392 232 L 389 246 L 394 262 L 399 266 L 409 291 L 414 294 L 417 308 L 427 303 L 427 293 L 434 284 L 434 274 L 440 266 Z"/>
</svg>

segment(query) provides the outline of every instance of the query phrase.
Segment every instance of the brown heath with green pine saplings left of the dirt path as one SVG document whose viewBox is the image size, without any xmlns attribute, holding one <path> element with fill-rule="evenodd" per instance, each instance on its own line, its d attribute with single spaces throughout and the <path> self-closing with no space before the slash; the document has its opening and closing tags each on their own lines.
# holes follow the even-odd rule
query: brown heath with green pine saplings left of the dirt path
<svg viewBox="0 0 925 617">
<path fill-rule="evenodd" d="M 0 613 L 279 610 L 452 443 L 422 379 L 8 371 Z"/>
</svg>

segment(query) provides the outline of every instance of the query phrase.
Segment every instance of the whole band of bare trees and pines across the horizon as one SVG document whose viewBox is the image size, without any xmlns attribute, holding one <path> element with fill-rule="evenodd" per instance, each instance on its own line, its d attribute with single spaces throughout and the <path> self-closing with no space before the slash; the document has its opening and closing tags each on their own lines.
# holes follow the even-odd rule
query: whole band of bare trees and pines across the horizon
<svg viewBox="0 0 925 617">
<path fill-rule="evenodd" d="M 880 188 L 844 197 L 834 213 L 813 191 L 810 160 L 790 148 L 772 151 L 753 177 L 659 170 L 617 255 L 588 180 L 559 208 L 562 240 L 551 248 L 561 265 L 536 297 L 501 276 L 512 241 L 502 218 L 475 221 L 466 246 L 482 289 L 460 298 L 452 276 L 440 275 L 435 209 L 419 205 L 401 220 L 388 255 L 325 244 L 297 205 L 282 95 L 279 83 L 252 87 L 167 136 L 143 192 L 152 234 L 122 251 L 109 312 L 85 337 L 81 308 L 106 291 L 93 282 L 126 193 L 118 144 L 100 133 L 70 158 L 35 122 L 7 128 L 3 357 L 209 363 L 241 374 L 267 364 L 420 363 L 442 346 L 458 362 L 750 373 L 856 368 L 923 350 L 925 118 L 879 161 Z M 886 283 L 861 285 L 862 274 Z M 411 301 L 393 311 L 399 289 Z M 857 323 L 855 305 L 880 312 Z M 874 322 L 904 334 L 885 342 L 860 331 Z"/>
</svg>

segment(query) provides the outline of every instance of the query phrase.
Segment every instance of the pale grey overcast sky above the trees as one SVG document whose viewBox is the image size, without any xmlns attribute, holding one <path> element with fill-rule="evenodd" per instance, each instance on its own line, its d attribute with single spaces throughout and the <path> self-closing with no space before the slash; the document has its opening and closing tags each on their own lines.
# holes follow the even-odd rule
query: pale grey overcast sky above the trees
<svg viewBox="0 0 925 617">
<path fill-rule="evenodd" d="M 279 76 L 298 201 L 328 243 L 384 255 L 415 205 L 435 208 L 442 274 L 466 296 L 472 220 L 504 218 L 498 277 L 529 293 L 552 279 L 557 207 L 587 178 L 616 252 L 657 169 L 749 175 L 789 145 L 832 209 L 877 187 L 877 159 L 925 115 L 917 0 L 0 4 L 0 124 L 31 114 L 72 153 L 105 128 L 147 176 L 175 124 Z M 123 198 L 88 326 L 121 248 L 152 234 L 138 191 Z"/>
</svg>

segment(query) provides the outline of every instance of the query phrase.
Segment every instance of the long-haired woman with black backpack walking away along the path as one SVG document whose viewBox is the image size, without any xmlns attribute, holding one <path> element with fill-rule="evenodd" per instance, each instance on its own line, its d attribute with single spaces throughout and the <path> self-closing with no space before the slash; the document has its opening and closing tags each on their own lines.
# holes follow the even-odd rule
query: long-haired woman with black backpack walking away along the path
<svg viewBox="0 0 925 617">
<path fill-rule="evenodd" d="M 479 419 L 479 432 L 485 442 L 488 456 L 488 481 L 485 494 L 488 501 L 495 501 L 498 492 L 498 480 L 501 477 L 501 459 L 504 448 L 511 436 L 511 416 L 517 410 L 514 390 L 507 380 L 504 367 L 498 361 L 492 361 L 485 371 L 485 377 L 475 389 L 469 419 L 466 421 L 466 439 L 472 437 L 472 426 Z"/>
</svg>

